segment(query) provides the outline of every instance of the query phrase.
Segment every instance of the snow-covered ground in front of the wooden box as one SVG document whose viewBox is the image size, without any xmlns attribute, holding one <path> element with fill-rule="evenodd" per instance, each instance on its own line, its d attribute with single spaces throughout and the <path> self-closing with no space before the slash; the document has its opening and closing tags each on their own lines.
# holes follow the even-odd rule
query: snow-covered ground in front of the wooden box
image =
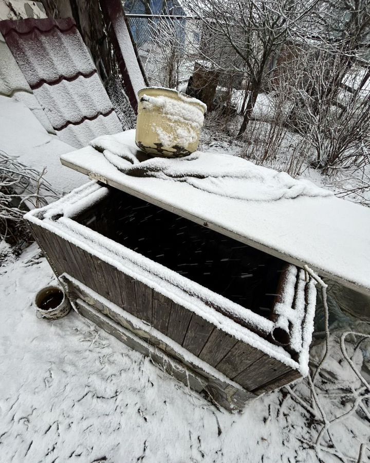
<svg viewBox="0 0 370 463">
<path fill-rule="evenodd" d="M 320 457 L 312 443 L 322 425 L 284 389 L 243 414 L 217 411 L 76 313 L 36 318 L 35 290 L 53 279 L 35 244 L 0 268 L 2 462 L 330 463 L 357 461 L 360 444 L 370 445 L 363 411 L 333 425 L 336 449 L 329 450 L 341 459 L 327 451 Z M 333 343 L 318 381 L 329 418 L 351 407 L 348 391 L 360 386 Z M 322 347 L 316 350 L 320 356 Z M 361 367 L 362 351 L 354 358 Z M 306 384 L 295 390 L 301 397 Z M 370 461 L 369 451 L 361 461 Z"/>
</svg>

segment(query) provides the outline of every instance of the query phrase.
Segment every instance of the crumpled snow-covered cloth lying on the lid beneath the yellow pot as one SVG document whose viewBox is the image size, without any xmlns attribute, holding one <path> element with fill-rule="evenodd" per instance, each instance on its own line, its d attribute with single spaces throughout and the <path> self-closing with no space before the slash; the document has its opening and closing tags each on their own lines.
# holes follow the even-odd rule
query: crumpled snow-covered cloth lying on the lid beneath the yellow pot
<svg viewBox="0 0 370 463">
<path fill-rule="evenodd" d="M 299 196 L 333 195 L 331 191 L 317 187 L 309 180 L 295 180 L 286 172 L 256 166 L 246 159 L 229 154 L 195 151 L 185 157 L 153 157 L 139 162 L 138 151 L 134 151 L 125 140 L 123 132 L 97 137 L 90 141 L 90 145 L 102 151 L 107 161 L 126 175 L 186 182 L 196 189 L 227 198 L 276 201 Z"/>
</svg>

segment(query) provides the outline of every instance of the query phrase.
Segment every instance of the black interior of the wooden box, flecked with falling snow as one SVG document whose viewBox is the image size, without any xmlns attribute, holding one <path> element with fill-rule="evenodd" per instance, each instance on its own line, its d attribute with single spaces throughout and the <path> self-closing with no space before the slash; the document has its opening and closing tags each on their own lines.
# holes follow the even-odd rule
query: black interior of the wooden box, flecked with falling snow
<svg viewBox="0 0 370 463">
<path fill-rule="evenodd" d="M 237 304 L 269 317 L 285 262 L 122 191 L 74 218 Z"/>
</svg>

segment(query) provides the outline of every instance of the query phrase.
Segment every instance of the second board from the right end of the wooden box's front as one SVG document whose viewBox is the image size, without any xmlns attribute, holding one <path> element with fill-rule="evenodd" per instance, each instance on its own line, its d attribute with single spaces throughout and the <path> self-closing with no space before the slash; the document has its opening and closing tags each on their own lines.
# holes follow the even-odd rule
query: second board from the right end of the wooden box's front
<svg viewBox="0 0 370 463">
<path fill-rule="evenodd" d="M 247 390 L 254 390 L 291 370 L 291 367 L 265 354 L 256 362 L 247 366 L 233 380 Z"/>
</svg>

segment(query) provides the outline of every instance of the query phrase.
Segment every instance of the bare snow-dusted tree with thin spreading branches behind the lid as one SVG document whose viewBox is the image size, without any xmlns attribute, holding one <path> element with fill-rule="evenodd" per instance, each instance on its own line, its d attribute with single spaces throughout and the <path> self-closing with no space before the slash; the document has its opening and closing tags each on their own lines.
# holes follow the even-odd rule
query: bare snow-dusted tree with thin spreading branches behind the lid
<svg viewBox="0 0 370 463">
<path fill-rule="evenodd" d="M 316 0 L 205 0 L 192 5 L 207 38 L 203 54 L 224 72 L 246 77 L 241 136 L 251 120 L 264 79 L 272 74 L 275 58 L 289 33 L 300 28 L 317 5 Z"/>
</svg>

